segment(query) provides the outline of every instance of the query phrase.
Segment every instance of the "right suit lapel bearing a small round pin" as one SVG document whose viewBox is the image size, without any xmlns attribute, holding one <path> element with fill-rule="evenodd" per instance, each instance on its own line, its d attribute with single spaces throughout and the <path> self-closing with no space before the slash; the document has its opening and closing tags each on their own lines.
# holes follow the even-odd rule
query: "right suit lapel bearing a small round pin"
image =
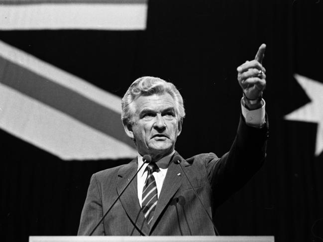
<svg viewBox="0 0 323 242">
<path fill-rule="evenodd" d="M 176 152 L 174 156 L 178 155 Z M 173 156 L 173 157 L 174 157 Z M 173 162 L 173 157 L 170 161 L 170 164 L 167 169 L 166 177 L 162 186 L 162 190 L 160 192 L 156 210 L 154 212 L 154 217 L 150 223 L 150 231 L 154 228 L 154 225 L 158 218 L 161 216 L 163 210 L 165 209 L 166 205 L 169 203 L 170 199 L 174 196 L 174 194 L 177 192 L 179 187 L 182 185 L 183 179 L 185 179 L 184 174 L 181 167 L 178 164 L 175 164 Z M 188 162 L 186 162 L 184 159 L 182 159 L 183 162 L 182 167 L 185 169 L 185 166 L 189 165 Z"/>
</svg>

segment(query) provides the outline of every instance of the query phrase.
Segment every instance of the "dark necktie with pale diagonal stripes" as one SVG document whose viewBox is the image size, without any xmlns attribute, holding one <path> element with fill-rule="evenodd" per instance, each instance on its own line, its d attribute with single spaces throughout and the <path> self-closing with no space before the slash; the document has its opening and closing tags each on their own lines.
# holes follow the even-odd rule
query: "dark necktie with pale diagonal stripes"
<svg viewBox="0 0 323 242">
<path fill-rule="evenodd" d="M 157 205 L 157 186 L 153 176 L 153 172 L 158 169 L 158 166 L 154 162 L 150 162 L 147 165 L 147 179 L 142 190 L 142 202 L 141 207 L 148 222 L 148 225 L 152 221 L 154 211 Z"/>
</svg>

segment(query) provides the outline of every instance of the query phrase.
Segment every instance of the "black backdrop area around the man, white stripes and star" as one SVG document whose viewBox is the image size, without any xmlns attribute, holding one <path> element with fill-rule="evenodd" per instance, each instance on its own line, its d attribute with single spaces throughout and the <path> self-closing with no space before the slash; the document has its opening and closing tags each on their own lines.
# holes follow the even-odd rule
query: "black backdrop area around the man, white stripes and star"
<svg viewBox="0 0 323 242">
<path fill-rule="evenodd" d="M 0 40 L 120 97 L 140 76 L 172 81 L 186 106 L 176 146 L 185 158 L 229 149 L 240 113 L 236 67 L 266 43 L 267 161 L 218 209 L 216 226 L 220 235 L 318 242 L 317 124 L 283 117 L 310 102 L 295 73 L 323 83 L 322 30 L 321 0 L 150 0 L 145 31 L 0 31 Z M 0 144 L 1 241 L 76 235 L 91 174 L 130 161 L 62 161 L 2 130 Z"/>
</svg>

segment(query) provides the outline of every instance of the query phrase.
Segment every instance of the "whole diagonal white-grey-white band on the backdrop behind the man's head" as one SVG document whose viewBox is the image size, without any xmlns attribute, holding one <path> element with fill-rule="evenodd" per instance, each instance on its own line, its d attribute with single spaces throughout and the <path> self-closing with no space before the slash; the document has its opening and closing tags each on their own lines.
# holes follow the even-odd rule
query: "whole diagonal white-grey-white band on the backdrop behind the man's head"
<svg viewBox="0 0 323 242">
<path fill-rule="evenodd" d="M 121 98 L 0 41 L 0 128 L 63 160 L 133 158 Z"/>
</svg>

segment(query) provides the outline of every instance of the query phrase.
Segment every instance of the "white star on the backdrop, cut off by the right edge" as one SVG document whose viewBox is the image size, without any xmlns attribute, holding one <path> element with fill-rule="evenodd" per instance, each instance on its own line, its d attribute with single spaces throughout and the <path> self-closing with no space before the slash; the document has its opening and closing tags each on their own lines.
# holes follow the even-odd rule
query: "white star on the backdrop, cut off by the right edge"
<svg viewBox="0 0 323 242">
<path fill-rule="evenodd" d="M 294 77 L 303 87 L 311 102 L 287 114 L 285 119 L 318 124 L 315 155 L 319 156 L 323 151 L 323 83 L 298 74 Z"/>
</svg>

